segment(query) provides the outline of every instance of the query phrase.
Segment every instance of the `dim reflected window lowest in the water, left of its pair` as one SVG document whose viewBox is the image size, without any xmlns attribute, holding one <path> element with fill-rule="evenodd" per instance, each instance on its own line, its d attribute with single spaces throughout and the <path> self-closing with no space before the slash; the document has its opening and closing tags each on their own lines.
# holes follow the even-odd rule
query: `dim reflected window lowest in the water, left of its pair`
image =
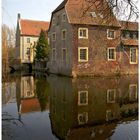
<svg viewBox="0 0 140 140">
<path fill-rule="evenodd" d="M 88 113 L 83 112 L 83 113 L 78 113 L 78 123 L 80 125 L 86 124 L 88 121 Z"/>
</svg>

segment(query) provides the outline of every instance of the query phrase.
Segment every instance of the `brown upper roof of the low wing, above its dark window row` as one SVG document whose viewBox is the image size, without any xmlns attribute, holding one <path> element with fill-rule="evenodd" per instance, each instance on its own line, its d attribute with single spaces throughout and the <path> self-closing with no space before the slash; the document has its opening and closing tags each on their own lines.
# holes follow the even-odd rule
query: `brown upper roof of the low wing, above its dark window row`
<svg viewBox="0 0 140 140">
<path fill-rule="evenodd" d="M 120 21 L 122 30 L 138 31 L 138 22 Z"/>
</svg>

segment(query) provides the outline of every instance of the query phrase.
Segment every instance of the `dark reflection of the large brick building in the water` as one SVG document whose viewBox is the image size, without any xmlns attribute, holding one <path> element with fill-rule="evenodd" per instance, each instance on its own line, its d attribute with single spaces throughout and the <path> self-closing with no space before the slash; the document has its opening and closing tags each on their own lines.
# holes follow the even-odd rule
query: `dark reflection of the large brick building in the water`
<svg viewBox="0 0 140 140">
<path fill-rule="evenodd" d="M 107 139 L 118 122 L 137 119 L 137 76 L 51 77 L 49 83 L 52 131 L 60 139 Z"/>
</svg>

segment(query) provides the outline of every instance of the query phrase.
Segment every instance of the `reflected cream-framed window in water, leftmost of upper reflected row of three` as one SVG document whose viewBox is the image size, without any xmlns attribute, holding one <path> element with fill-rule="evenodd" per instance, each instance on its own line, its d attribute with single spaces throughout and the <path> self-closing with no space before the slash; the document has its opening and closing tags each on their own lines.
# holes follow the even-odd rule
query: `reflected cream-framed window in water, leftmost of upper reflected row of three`
<svg viewBox="0 0 140 140">
<path fill-rule="evenodd" d="M 88 91 L 78 92 L 78 105 L 88 105 Z"/>
</svg>

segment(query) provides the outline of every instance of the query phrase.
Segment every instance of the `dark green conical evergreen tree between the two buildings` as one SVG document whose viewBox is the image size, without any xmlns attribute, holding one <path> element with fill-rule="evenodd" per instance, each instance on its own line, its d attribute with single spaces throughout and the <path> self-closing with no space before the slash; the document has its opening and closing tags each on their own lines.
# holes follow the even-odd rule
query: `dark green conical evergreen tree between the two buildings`
<svg viewBox="0 0 140 140">
<path fill-rule="evenodd" d="M 46 37 L 46 32 L 41 30 L 40 36 L 36 45 L 36 55 L 35 60 L 41 61 L 41 60 L 49 60 L 49 51 L 50 47 L 48 44 L 48 40 Z"/>
</svg>

